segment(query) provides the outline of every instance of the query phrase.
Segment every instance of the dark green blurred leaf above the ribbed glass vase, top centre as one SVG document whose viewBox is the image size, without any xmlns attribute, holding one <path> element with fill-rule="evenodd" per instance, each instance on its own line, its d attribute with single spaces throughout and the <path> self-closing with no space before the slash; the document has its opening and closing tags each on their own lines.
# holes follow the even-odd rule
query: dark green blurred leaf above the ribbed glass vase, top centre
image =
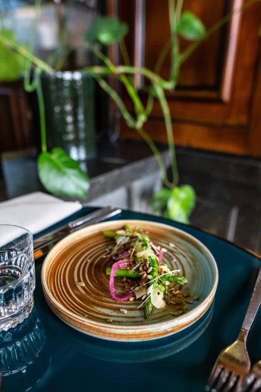
<svg viewBox="0 0 261 392">
<path fill-rule="evenodd" d="M 110 45 L 120 41 L 127 31 L 127 25 L 120 23 L 116 18 L 99 17 L 86 32 L 85 41 L 92 44 Z"/>
</svg>

